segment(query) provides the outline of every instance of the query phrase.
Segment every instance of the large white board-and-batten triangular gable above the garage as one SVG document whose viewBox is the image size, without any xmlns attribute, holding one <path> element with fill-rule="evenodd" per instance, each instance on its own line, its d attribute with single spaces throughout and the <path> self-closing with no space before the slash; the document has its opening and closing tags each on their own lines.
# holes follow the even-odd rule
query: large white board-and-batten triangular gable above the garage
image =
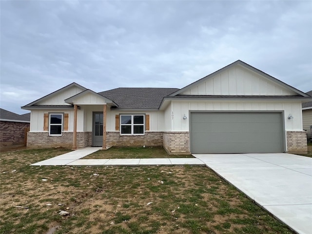
<svg viewBox="0 0 312 234">
<path fill-rule="evenodd" d="M 170 96 L 176 95 L 300 95 L 308 97 L 305 93 L 241 60 L 195 81 Z"/>
</svg>

